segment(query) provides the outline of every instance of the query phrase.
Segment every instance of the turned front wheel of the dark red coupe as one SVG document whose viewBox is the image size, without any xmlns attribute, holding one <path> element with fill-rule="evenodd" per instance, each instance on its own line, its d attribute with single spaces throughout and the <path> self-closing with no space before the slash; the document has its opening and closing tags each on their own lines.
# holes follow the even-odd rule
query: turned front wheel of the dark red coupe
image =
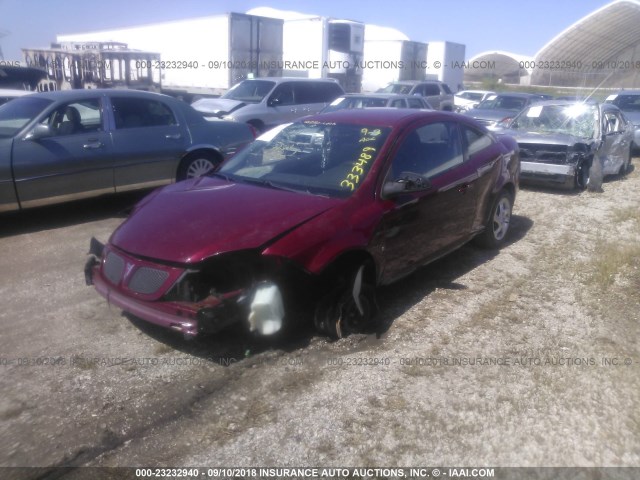
<svg viewBox="0 0 640 480">
<path fill-rule="evenodd" d="M 319 333 L 332 339 L 344 338 L 352 333 L 364 333 L 372 329 L 378 313 L 375 288 L 362 279 L 358 280 L 358 269 L 349 281 L 338 281 L 338 286 L 325 295 L 316 307 L 314 324 Z M 354 286 L 360 281 L 358 300 L 354 297 Z"/>
</svg>

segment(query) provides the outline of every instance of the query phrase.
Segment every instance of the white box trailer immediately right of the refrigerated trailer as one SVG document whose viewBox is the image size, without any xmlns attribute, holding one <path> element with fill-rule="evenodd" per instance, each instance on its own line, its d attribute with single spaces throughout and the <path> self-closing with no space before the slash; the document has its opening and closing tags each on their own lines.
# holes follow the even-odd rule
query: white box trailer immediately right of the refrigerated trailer
<svg viewBox="0 0 640 480">
<path fill-rule="evenodd" d="M 413 42 L 389 27 L 365 27 L 362 91 L 375 92 L 390 82 L 425 80 L 427 44 Z"/>
</svg>

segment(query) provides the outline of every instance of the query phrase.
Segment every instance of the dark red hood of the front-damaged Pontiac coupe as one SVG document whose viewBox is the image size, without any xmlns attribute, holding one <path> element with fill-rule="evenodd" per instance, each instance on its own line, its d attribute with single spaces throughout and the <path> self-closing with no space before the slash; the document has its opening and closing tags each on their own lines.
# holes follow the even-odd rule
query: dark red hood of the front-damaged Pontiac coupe
<svg viewBox="0 0 640 480">
<path fill-rule="evenodd" d="M 263 246 L 343 201 L 202 177 L 143 199 L 110 243 L 140 257 L 197 263 Z"/>
</svg>

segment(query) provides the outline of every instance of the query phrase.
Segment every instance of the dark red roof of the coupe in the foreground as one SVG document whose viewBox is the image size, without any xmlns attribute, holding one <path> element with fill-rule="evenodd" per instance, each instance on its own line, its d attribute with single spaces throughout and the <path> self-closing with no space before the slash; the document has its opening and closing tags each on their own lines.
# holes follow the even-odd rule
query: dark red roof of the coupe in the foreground
<svg viewBox="0 0 640 480">
<path fill-rule="evenodd" d="M 410 108 L 353 108 L 336 110 L 333 112 L 319 113 L 304 117 L 301 121 L 336 122 L 365 124 L 375 127 L 396 127 L 407 125 L 422 118 L 433 119 L 470 119 L 450 112 L 440 110 L 419 110 Z"/>
</svg>

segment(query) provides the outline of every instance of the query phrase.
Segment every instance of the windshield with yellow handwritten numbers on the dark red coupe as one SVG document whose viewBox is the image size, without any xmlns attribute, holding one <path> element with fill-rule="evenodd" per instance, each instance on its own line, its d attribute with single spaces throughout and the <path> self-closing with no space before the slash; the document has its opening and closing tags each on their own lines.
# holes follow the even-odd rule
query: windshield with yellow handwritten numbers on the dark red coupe
<svg viewBox="0 0 640 480">
<path fill-rule="evenodd" d="M 348 197 L 362 185 L 389 130 L 317 121 L 276 127 L 218 173 L 239 182 Z"/>
</svg>

